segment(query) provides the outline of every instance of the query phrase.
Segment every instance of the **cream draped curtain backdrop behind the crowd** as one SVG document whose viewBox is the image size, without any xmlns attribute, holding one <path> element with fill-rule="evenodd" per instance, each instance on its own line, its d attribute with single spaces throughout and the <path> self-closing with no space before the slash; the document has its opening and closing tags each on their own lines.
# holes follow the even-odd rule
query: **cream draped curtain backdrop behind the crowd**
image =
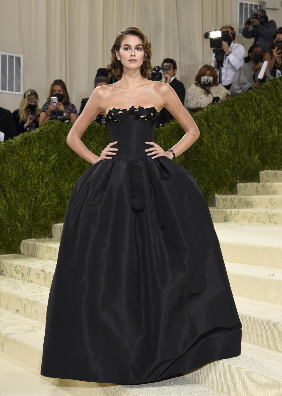
<svg viewBox="0 0 282 396">
<path fill-rule="evenodd" d="M 36 89 L 40 105 L 50 83 L 62 78 L 79 110 L 97 69 L 110 62 L 121 29 L 143 30 L 152 43 L 152 65 L 174 58 L 176 76 L 188 89 L 199 68 L 211 63 L 203 33 L 222 24 L 236 30 L 237 7 L 237 0 L 0 0 L 0 51 L 23 55 L 23 90 Z M 237 35 L 236 42 L 248 48 L 252 40 Z M 0 106 L 13 111 L 20 99 L 0 93 Z"/>
</svg>

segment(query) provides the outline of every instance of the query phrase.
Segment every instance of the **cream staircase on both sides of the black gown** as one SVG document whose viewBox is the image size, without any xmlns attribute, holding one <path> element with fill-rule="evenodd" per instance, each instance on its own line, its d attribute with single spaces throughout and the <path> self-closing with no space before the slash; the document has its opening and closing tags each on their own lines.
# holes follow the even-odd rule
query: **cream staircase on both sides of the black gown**
<svg viewBox="0 0 282 396">
<path fill-rule="evenodd" d="M 282 195 L 282 172 L 260 176 L 261 183 L 238 186 L 243 201 L 243 192 Z M 214 227 L 243 324 L 240 356 L 144 385 L 41 377 L 47 299 L 62 232 L 59 224 L 53 226 L 51 239 L 24 240 L 22 255 L 0 256 L 0 395 L 281 396 L 282 225 L 226 221 Z"/>
</svg>

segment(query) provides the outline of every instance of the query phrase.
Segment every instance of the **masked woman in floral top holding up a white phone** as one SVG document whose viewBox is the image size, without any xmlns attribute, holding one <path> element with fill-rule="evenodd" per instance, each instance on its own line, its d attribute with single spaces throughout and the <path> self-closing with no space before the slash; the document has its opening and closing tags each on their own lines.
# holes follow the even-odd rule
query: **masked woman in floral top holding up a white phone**
<svg viewBox="0 0 282 396">
<path fill-rule="evenodd" d="M 51 102 L 52 96 L 56 96 L 58 98 L 56 106 L 53 106 Z M 47 101 L 40 110 L 39 125 L 47 120 L 60 120 L 62 119 L 62 116 L 70 118 L 71 122 L 75 122 L 78 117 L 75 105 L 70 102 L 66 84 L 63 80 L 58 79 L 51 83 Z"/>
</svg>

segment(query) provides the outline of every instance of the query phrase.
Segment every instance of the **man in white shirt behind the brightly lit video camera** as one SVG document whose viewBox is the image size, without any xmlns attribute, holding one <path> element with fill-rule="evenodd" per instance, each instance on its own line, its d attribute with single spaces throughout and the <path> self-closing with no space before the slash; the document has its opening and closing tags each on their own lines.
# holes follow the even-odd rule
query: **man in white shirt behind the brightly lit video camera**
<svg viewBox="0 0 282 396">
<path fill-rule="evenodd" d="M 232 26 L 226 25 L 220 28 L 220 31 L 223 32 L 224 30 L 229 31 L 229 41 L 222 42 L 222 49 L 224 50 L 224 61 L 222 66 L 222 85 L 229 89 L 231 84 L 233 83 L 237 71 L 243 66 L 244 57 L 246 56 L 246 51 L 241 44 L 237 44 L 234 42 L 235 40 L 235 30 Z M 217 73 L 217 63 L 215 59 L 215 55 L 212 55 L 212 63 L 211 65 L 216 69 Z"/>
</svg>

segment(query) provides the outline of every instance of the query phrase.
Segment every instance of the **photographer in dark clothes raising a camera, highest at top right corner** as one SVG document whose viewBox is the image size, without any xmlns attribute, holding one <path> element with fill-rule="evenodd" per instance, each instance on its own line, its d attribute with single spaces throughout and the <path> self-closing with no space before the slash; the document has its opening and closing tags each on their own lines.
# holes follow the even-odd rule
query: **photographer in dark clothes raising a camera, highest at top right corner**
<svg viewBox="0 0 282 396">
<path fill-rule="evenodd" d="M 276 29 L 276 22 L 273 19 L 269 21 L 266 11 L 261 9 L 252 12 L 252 17 L 244 23 L 242 34 L 245 38 L 254 37 L 254 44 L 260 45 L 263 51 L 267 51 L 271 48 L 272 35 Z"/>
</svg>

